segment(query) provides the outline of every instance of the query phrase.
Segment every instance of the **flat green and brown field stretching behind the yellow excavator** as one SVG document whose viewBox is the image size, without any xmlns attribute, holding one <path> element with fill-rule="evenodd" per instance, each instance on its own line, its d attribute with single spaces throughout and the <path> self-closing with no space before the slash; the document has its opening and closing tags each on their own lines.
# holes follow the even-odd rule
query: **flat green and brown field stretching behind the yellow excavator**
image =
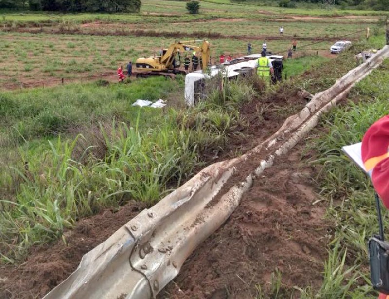
<svg viewBox="0 0 389 299">
<path fill-rule="evenodd" d="M 269 7 L 261 10 L 253 5 L 213 2 L 202 2 L 201 14 L 188 15 L 184 4 L 145 0 L 138 15 L 4 14 L 0 19 L 0 88 L 52 86 L 102 77 L 114 81 L 119 65 L 156 55 L 177 39 L 208 39 L 212 64 L 221 53 L 233 57 L 246 54 L 248 42 L 259 52 L 264 40 L 270 51 L 281 55 L 286 55 L 296 39 L 296 56 L 318 52 L 334 57 L 328 53 L 334 41 L 341 36 L 357 40 L 381 18 L 377 12 L 365 12 L 361 17 L 313 17 L 298 15 L 300 11 L 288 15 L 275 8 L 269 15 Z M 278 35 L 280 26 L 284 27 L 283 36 Z"/>
</svg>

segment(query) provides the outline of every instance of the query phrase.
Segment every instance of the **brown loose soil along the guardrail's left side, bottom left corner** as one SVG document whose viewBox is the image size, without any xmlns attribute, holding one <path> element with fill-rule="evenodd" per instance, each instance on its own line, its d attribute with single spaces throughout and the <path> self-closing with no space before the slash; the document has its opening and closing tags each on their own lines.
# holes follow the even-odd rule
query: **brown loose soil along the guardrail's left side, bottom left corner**
<svg viewBox="0 0 389 299">
<path fill-rule="evenodd" d="M 65 280 L 78 266 L 82 256 L 105 241 L 137 215 L 145 205 L 130 202 L 119 211 L 104 212 L 81 220 L 64 234 L 67 244 L 34 247 L 26 262 L 18 267 L 0 268 L 0 298 L 39 298 Z"/>
</svg>

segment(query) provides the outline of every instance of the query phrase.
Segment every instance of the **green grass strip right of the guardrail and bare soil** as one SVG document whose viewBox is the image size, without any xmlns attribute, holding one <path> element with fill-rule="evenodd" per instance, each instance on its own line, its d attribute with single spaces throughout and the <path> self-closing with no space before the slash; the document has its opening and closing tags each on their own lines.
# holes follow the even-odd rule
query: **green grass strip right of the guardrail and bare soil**
<svg viewBox="0 0 389 299">
<path fill-rule="evenodd" d="M 319 157 L 313 163 L 322 167 L 318 181 L 322 195 L 330 203 L 328 217 L 335 224 L 331 250 L 342 252 L 348 264 L 349 275 L 336 282 L 338 286 L 331 294 L 337 295 L 331 298 L 376 298 L 369 286 L 366 247 L 367 239 L 378 232 L 373 190 L 370 180 L 342 153 L 341 147 L 359 142 L 373 122 L 389 114 L 388 82 L 389 61 L 386 60 L 356 85 L 347 105 L 325 115 L 322 121 L 325 131 L 311 144 Z M 388 225 L 385 219 L 384 226 Z M 338 259 L 338 263 L 344 264 L 344 260 Z M 340 272 L 335 274 L 324 282 L 334 285 Z"/>
</svg>

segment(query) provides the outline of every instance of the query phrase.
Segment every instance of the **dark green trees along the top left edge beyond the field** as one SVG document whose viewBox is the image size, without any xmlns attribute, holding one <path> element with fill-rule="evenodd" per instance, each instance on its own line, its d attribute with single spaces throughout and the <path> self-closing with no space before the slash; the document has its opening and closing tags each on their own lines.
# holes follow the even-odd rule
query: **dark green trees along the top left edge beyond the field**
<svg viewBox="0 0 389 299">
<path fill-rule="evenodd" d="M 59 12 L 139 13 L 141 0 L 0 0 L 0 8 Z"/>
</svg>

